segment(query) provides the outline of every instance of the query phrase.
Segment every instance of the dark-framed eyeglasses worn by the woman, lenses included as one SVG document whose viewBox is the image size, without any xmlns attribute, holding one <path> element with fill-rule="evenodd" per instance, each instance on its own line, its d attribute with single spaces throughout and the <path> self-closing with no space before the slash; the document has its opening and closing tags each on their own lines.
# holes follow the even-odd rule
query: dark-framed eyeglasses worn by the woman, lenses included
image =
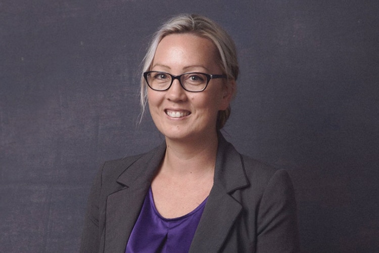
<svg viewBox="0 0 379 253">
<path fill-rule="evenodd" d="M 207 88 L 211 79 L 227 78 L 226 75 L 211 75 L 200 72 L 172 75 L 159 71 L 148 71 L 144 73 L 148 86 L 154 91 L 167 91 L 175 79 L 179 80 L 181 87 L 187 92 L 202 92 Z"/>
</svg>

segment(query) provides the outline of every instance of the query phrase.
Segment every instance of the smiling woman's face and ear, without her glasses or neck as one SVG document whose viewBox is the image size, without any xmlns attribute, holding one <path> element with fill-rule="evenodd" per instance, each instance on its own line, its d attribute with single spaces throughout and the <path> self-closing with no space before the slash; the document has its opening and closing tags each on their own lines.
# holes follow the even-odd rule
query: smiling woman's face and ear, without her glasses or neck
<svg viewBox="0 0 379 253">
<path fill-rule="evenodd" d="M 164 37 L 154 56 L 152 71 L 180 75 L 188 72 L 223 74 L 216 47 L 207 38 L 194 34 L 171 34 Z M 158 130 L 168 139 L 191 140 L 216 133 L 219 110 L 231 99 L 226 79 L 211 79 L 202 92 L 187 92 L 177 79 L 167 91 L 148 89 L 149 109 Z"/>
</svg>

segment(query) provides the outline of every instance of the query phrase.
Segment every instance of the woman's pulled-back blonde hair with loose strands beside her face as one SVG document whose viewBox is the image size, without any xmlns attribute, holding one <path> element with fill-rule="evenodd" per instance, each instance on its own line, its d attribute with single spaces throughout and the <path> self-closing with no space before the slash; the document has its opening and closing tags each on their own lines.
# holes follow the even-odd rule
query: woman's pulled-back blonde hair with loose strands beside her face
<svg viewBox="0 0 379 253">
<path fill-rule="evenodd" d="M 184 33 L 191 33 L 212 41 L 217 50 L 217 57 L 215 57 L 216 59 L 214 59 L 214 61 L 216 61 L 221 67 L 222 74 L 227 76 L 227 85 L 234 86 L 235 80 L 238 78 L 239 66 L 233 40 L 221 26 L 212 20 L 199 15 L 182 14 L 173 17 L 163 24 L 163 26 L 155 33 L 148 48 L 147 54 L 144 58 L 143 72 L 151 70 L 155 52 L 160 41 L 164 37 L 170 34 Z M 147 83 L 144 77 L 142 77 L 140 99 L 143 111 L 147 104 L 147 89 Z M 233 92 L 235 91 L 234 87 L 231 87 L 231 89 Z M 224 126 L 229 115 L 230 105 L 227 109 L 218 112 L 217 129 L 221 129 Z"/>
</svg>

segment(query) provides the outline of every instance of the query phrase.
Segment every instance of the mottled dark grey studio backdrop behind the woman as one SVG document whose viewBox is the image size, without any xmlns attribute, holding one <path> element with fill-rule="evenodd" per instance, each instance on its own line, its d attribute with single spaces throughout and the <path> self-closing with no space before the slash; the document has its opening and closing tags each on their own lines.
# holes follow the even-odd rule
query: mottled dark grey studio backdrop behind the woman
<svg viewBox="0 0 379 253">
<path fill-rule="evenodd" d="M 99 165 L 163 138 L 140 62 L 168 16 L 206 15 L 239 51 L 224 135 L 289 171 L 304 252 L 379 250 L 379 2 L 0 1 L 0 251 L 75 252 Z"/>
</svg>

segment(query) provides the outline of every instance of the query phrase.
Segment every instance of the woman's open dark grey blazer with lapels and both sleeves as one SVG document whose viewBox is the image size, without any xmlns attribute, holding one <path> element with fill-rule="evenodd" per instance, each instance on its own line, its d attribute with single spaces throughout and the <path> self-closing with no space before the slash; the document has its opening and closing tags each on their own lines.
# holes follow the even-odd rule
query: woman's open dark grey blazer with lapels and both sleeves
<svg viewBox="0 0 379 253">
<path fill-rule="evenodd" d="M 105 162 L 92 185 L 80 252 L 125 252 L 166 145 Z M 148 242 L 147 242 L 148 243 Z M 286 171 L 239 154 L 221 135 L 214 185 L 189 252 L 298 252 Z"/>
</svg>

